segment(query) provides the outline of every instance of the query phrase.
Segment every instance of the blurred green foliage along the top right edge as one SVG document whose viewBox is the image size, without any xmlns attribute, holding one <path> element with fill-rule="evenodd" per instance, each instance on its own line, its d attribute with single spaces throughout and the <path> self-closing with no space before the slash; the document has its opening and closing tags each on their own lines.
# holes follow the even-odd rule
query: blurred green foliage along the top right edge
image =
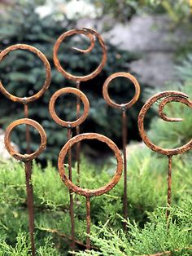
<svg viewBox="0 0 192 256">
<path fill-rule="evenodd" d="M 189 22 L 192 2 L 190 0 L 94 0 L 103 14 L 112 14 L 117 20 L 126 22 L 137 13 L 168 13 L 176 24 Z"/>
</svg>

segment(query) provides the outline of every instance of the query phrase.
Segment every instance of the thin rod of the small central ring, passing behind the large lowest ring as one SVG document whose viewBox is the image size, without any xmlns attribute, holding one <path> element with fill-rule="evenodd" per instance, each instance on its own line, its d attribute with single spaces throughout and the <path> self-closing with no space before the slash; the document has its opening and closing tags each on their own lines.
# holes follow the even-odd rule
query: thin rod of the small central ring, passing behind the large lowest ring
<svg viewBox="0 0 192 256">
<path fill-rule="evenodd" d="M 72 137 L 72 130 L 68 128 L 68 140 Z M 71 148 L 68 150 L 68 179 L 72 181 L 72 150 Z M 75 218 L 74 218 L 74 203 L 73 203 L 73 196 L 72 190 L 69 189 L 69 199 L 70 199 L 70 206 L 69 206 L 69 213 L 71 218 L 71 229 L 72 229 L 72 250 L 75 250 Z"/>
</svg>

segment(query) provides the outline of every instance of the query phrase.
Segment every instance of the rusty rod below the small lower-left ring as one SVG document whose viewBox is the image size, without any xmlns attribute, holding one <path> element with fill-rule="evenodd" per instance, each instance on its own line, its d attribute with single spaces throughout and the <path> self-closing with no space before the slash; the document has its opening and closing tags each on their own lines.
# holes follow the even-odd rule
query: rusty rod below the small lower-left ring
<svg viewBox="0 0 192 256">
<path fill-rule="evenodd" d="M 28 204 L 28 227 L 30 233 L 30 240 L 32 245 L 32 255 L 35 256 L 35 243 L 34 243 L 34 208 L 33 208 L 33 185 L 31 182 L 32 166 L 31 161 L 25 162 L 25 178 L 26 178 L 26 191 L 27 191 L 27 204 Z"/>
</svg>

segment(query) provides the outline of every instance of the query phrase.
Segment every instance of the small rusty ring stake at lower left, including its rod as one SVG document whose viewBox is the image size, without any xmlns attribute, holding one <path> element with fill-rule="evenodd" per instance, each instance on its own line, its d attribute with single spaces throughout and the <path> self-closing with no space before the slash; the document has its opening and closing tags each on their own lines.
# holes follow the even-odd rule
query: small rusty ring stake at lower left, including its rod
<svg viewBox="0 0 192 256">
<path fill-rule="evenodd" d="M 41 136 L 41 144 L 40 147 L 37 149 L 36 152 L 31 154 L 20 154 L 16 152 L 15 149 L 11 146 L 11 131 L 20 125 L 28 125 L 33 126 L 36 130 L 38 130 Z M 23 118 L 13 121 L 11 125 L 7 127 L 5 133 L 5 146 L 7 151 L 11 154 L 11 157 L 14 157 L 17 160 L 23 161 L 25 166 L 25 176 L 26 176 L 26 191 L 27 191 L 27 203 L 28 203 L 28 226 L 29 226 L 29 233 L 30 233 L 30 240 L 32 245 L 32 255 L 35 255 L 35 242 L 34 242 L 34 209 L 33 209 L 33 185 L 32 185 L 32 172 L 31 172 L 31 162 L 33 159 L 37 158 L 41 152 L 46 148 L 46 132 L 37 123 L 32 119 Z"/>
</svg>

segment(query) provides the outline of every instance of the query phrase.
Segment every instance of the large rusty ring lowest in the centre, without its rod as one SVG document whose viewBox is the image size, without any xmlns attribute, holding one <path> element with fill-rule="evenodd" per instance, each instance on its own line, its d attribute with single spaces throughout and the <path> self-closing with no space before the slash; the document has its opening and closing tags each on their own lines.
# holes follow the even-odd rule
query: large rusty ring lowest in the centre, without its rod
<svg viewBox="0 0 192 256">
<path fill-rule="evenodd" d="M 87 188 L 80 188 L 77 187 L 75 184 L 73 184 L 70 179 L 68 179 L 67 174 L 65 173 L 63 162 L 64 158 L 66 157 L 68 150 L 74 145 L 75 143 L 80 142 L 83 139 L 98 139 L 99 141 L 103 143 L 107 143 L 109 148 L 115 153 L 116 161 L 117 161 L 117 168 L 116 168 L 116 174 L 113 176 L 111 181 L 107 183 L 107 185 L 103 186 L 102 188 L 98 189 L 87 189 Z M 59 159 L 58 159 L 58 167 L 59 167 L 59 174 L 65 185 L 72 190 L 72 192 L 75 192 L 77 194 L 80 194 L 82 196 L 101 196 L 106 192 L 109 192 L 112 188 L 116 186 L 116 184 L 119 182 L 122 170 L 123 170 L 123 159 L 121 157 L 121 153 L 119 148 L 117 148 L 116 144 L 111 140 L 108 139 L 104 135 L 99 135 L 96 133 L 85 133 L 81 135 L 76 135 L 72 139 L 69 139 L 68 142 L 63 146 L 59 153 Z"/>
</svg>

